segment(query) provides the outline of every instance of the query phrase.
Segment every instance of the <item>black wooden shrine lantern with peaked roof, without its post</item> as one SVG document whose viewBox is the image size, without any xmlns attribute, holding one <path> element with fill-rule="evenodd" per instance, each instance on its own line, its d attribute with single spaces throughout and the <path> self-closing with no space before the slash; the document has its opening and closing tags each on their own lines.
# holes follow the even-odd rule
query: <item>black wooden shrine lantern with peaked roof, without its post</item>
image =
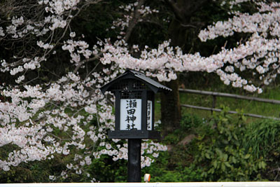
<svg viewBox="0 0 280 187">
<path fill-rule="evenodd" d="M 110 139 L 160 138 L 160 132 L 154 130 L 155 93 L 171 89 L 128 69 L 101 91 L 111 91 L 116 97 L 116 127 L 109 131 Z"/>
</svg>

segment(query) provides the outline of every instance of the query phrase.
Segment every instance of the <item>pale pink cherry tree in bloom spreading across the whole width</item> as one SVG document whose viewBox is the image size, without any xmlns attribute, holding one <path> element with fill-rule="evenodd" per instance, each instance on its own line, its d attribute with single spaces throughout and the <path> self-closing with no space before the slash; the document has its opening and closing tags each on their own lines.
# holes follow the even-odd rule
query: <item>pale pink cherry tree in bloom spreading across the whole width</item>
<svg viewBox="0 0 280 187">
<path fill-rule="evenodd" d="M 183 10 L 179 2 L 165 4 L 172 7 L 176 18 Z M 81 11 L 104 1 L 4 1 L 0 42 L 6 53 L 0 59 L 1 77 L 15 82 L 5 81 L 0 86 L 0 148 L 13 145 L 0 158 L 0 169 L 8 171 L 22 162 L 51 160 L 55 154 L 72 155 L 66 169 L 59 176 L 51 175 L 50 180 L 66 179 L 73 172 L 98 181 L 85 169 L 93 159 L 102 155 L 114 161 L 127 159 L 126 142 L 106 138 L 106 131 L 114 124 L 114 97 L 99 90 L 127 68 L 167 82 L 176 80 L 178 72 L 213 72 L 226 85 L 261 93 L 260 85 L 271 83 L 279 74 L 279 3 L 214 2 L 228 7 L 229 18 L 202 29 L 200 39 L 227 38 L 236 33 L 248 37 L 234 48 L 223 46 L 218 53 L 203 57 L 199 52 L 184 53 L 174 47 L 173 40 L 159 43 L 158 48 L 128 44 L 137 24 L 160 13 L 144 0 L 119 6 L 123 14 L 106 28 L 116 32 L 116 39 L 98 39 L 91 45 L 83 34 L 76 34 L 71 23 Z M 253 4 L 255 13 L 238 11 L 246 3 Z M 42 72 L 57 55 L 68 68 L 45 81 Z M 248 76 L 248 71 L 258 81 Z M 144 141 L 141 166 L 150 166 L 158 153 L 166 150 L 159 143 Z"/>
</svg>

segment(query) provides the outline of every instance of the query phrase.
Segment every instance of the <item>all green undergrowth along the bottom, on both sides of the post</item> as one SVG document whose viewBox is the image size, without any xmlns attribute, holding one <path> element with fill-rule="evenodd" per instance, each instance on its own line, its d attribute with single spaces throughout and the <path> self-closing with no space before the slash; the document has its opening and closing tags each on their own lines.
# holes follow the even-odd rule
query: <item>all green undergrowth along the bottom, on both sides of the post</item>
<svg viewBox="0 0 280 187">
<path fill-rule="evenodd" d="M 184 115 L 180 128 L 163 140 L 172 149 L 160 153 L 151 167 L 143 168 L 142 176 L 151 174 L 151 182 L 279 180 L 280 122 L 247 124 L 241 113 L 231 116 L 228 110 L 225 107 L 207 120 Z M 179 143 L 190 134 L 195 136 L 190 143 Z M 1 171 L 0 182 L 50 182 L 49 176 L 59 175 L 69 159 L 55 155 L 52 160 L 22 163 L 8 172 Z M 102 155 L 84 169 L 83 174 L 71 172 L 67 179 L 58 181 L 90 182 L 85 173 L 102 182 L 127 181 L 127 160 L 114 162 L 109 155 Z"/>
</svg>

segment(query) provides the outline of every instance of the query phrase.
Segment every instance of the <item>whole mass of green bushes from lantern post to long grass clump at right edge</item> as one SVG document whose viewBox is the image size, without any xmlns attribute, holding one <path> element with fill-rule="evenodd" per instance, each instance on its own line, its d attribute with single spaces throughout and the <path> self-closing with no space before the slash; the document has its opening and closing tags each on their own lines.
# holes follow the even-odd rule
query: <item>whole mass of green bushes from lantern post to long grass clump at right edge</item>
<svg viewBox="0 0 280 187">
<path fill-rule="evenodd" d="M 153 181 L 255 181 L 264 180 L 267 160 L 258 157 L 246 144 L 251 126 L 239 113 L 231 116 L 224 107 L 205 120 L 190 114 L 183 116 L 181 127 L 165 137 L 172 144 L 169 153 L 145 169 Z M 185 146 L 179 142 L 195 134 Z M 264 137 L 266 139 L 266 137 Z M 268 141 L 268 140 L 267 140 Z"/>
</svg>

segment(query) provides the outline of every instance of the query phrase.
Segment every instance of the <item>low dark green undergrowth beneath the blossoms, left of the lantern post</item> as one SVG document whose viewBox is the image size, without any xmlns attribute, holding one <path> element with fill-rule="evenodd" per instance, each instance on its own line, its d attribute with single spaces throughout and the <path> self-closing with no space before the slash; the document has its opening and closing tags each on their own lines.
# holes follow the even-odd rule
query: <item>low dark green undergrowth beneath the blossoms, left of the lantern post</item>
<svg viewBox="0 0 280 187">
<path fill-rule="evenodd" d="M 59 176 L 69 164 L 69 156 L 55 155 L 52 160 L 41 160 L 21 163 L 18 167 L 11 167 L 8 172 L 0 172 L 0 183 L 39 183 L 52 182 L 50 175 Z M 102 155 L 99 159 L 92 160 L 92 164 L 84 167 L 82 174 L 67 172 L 68 177 L 57 178 L 55 182 L 90 182 L 87 174 L 94 176 L 102 182 L 125 182 L 127 181 L 127 160 L 114 162 L 109 155 Z"/>
</svg>

